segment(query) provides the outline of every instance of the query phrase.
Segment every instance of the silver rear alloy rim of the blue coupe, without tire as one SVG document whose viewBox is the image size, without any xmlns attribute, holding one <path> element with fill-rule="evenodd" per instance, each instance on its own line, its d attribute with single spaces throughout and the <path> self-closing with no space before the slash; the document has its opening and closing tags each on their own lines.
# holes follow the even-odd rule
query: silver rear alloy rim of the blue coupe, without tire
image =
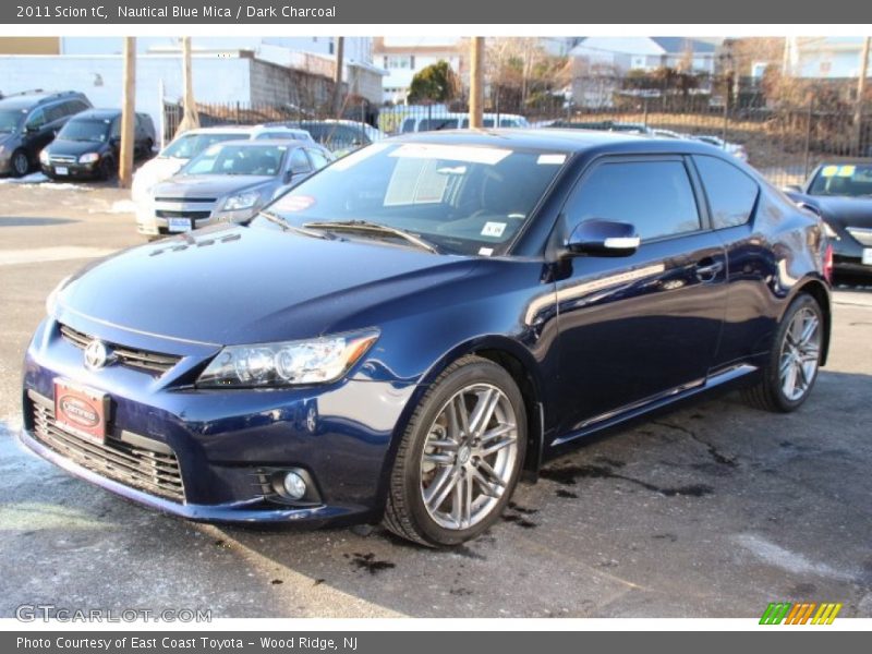
<svg viewBox="0 0 872 654">
<path fill-rule="evenodd" d="M 821 322 L 810 308 L 794 314 L 785 331 L 779 360 L 784 396 L 795 402 L 811 388 L 821 358 Z"/>
</svg>

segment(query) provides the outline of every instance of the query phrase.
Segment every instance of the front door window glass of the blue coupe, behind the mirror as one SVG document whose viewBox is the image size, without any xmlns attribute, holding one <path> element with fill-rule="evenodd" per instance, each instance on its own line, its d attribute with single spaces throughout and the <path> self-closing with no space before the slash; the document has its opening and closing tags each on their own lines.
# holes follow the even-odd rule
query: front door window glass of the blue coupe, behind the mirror
<svg viewBox="0 0 872 654">
<path fill-rule="evenodd" d="M 567 202 L 570 228 L 583 220 L 630 222 L 642 240 L 700 229 L 700 214 L 681 161 L 597 166 Z"/>
</svg>

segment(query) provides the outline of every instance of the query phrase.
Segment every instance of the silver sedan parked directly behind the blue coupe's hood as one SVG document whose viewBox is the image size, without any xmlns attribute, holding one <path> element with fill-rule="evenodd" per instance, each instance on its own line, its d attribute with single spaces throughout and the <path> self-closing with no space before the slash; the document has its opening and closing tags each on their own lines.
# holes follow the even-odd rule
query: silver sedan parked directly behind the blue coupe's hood
<svg viewBox="0 0 872 654">
<path fill-rule="evenodd" d="M 150 190 L 144 233 L 172 234 L 249 220 L 272 199 L 327 166 L 334 155 L 291 140 L 226 141 L 209 146 Z M 140 222 L 143 231 L 143 223 Z"/>
</svg>

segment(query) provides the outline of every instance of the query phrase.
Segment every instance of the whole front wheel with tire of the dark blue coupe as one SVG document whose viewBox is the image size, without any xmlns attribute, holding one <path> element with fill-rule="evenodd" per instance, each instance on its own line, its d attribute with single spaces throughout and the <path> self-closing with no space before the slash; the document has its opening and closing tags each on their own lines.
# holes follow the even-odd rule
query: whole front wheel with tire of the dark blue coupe
<svg viewBox="0 0 872 654">
<path fill-rule="evenodd" d="M 431 385 L 402 435 L 385 526 L 429 547 L 476 537 L 502 513 L 525 451 L 526 411 L 511 375 L 486 359 L 458 360 Z"/>
</svg>

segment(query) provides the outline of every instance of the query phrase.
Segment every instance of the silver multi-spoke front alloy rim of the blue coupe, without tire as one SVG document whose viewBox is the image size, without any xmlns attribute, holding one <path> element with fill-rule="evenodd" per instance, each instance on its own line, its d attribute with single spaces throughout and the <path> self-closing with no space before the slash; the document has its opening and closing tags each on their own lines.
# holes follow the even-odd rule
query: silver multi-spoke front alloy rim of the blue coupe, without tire
<svg viewBox="0 0 872 654">
<path fill-rule="evenodd" d="M 518 458 L 517 417 L 489 384 L 456 392 L 431 425 L 421 456 L 421 494 L 444 529 L 465 530 L 499 502 Z"/>
</svg>

